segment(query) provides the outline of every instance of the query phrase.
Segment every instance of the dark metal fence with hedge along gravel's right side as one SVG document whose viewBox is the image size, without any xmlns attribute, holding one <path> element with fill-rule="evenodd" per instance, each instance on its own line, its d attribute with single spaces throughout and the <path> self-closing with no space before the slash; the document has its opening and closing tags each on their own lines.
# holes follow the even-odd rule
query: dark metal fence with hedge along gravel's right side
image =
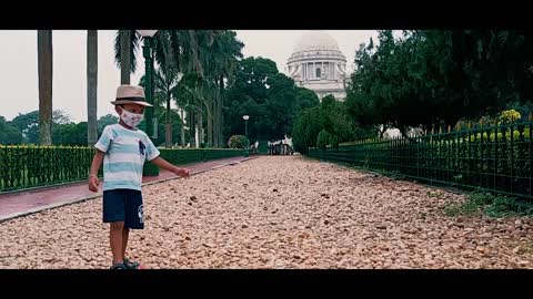
<svg viewBox="0 0 533 299">
<path fill-rule="evenodd" d="M 429 184 L 532 199 L 532 122 L 310 148 L 309 156 L 394 172 Z"/>
</svg>

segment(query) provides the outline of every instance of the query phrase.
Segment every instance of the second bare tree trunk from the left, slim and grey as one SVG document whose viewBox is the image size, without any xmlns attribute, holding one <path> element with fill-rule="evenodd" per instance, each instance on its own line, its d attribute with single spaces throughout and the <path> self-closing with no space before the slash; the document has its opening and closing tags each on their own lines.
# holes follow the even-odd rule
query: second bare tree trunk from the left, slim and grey
<svg viewBox="0 0 533 299">
<path fill-rule="evenodd" d="M 87 31 L 87 143 L 97 143 L 98 30 Z"/>
</svg>

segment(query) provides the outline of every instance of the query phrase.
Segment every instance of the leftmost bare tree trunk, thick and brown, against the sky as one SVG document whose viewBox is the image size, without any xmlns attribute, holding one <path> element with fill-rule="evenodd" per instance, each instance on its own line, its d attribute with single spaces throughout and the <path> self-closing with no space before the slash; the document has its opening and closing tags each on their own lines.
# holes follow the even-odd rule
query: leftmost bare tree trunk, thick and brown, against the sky
<svg viewBox="0 0 533 299">
<path fill-rule="evenodd" d="M 37 60 L 39 73 L 39 142 L 52 144 L 52 31 L 37 31 Z"/>
</svg>

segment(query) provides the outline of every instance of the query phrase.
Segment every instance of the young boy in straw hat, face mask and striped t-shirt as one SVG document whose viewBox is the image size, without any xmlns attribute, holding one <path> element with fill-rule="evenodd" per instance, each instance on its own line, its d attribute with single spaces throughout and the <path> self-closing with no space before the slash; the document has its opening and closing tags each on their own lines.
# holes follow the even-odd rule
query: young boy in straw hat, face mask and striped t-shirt
<svg viewBox="0 0 533 299">
<path fill-rule="evenodd" d="M 94 145 L 97 154 L 89 174 L 89 189 L 98 192 L 97 174 L 103 161 L 103 221 L 110 223 L 111 269 L 140 269 L 139 262 L 125 258 L 125 247 L 130 229 L 144 228 L 141 194 L 144 161 L 181 177 L 188 177 L 189 169 L 159 157 L 160 153 L 148 135 L 135 128 L 144 107 L 152 106 L 144 102 L 142 87 L 121 85 L 117 90 L 117 101 L 111 103 L 120 122 L 105 126 Z"/>
</svg>

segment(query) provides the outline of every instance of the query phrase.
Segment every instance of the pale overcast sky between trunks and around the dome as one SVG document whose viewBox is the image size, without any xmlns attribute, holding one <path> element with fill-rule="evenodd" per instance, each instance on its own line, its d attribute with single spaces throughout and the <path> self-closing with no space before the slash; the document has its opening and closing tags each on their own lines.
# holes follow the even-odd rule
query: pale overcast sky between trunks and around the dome
<svg viewBox="0 0 533 299">
<path fill-rule="evenodd" d="M 294 45 L 305 30 L 235 30 L 244 43 L 244 56 L 263 56 L 275 61 L 285 72 Z M 112 105 L 120 70 L 114 63 L 113 40 L 117 31 L 98 31 L 98 117 L 114 114 Z M 355 50 L 378 37 L 370 30 L 326 30 L 339 43 L 352 70 Z M 87 121 L 87 31 L 54 30 L 53 33 L 53 110 L 64 111 L 74 122 Z M 0 115 L 11 121 L 19 113 L 39 109 L 37 73 L 37 30 L 0 30 Z M 138 70 L 131 83 L 144 73 L 144 59 L 138 53 Z M 285 72 L 286 73 L 286 72 Z"/>
</svg>

